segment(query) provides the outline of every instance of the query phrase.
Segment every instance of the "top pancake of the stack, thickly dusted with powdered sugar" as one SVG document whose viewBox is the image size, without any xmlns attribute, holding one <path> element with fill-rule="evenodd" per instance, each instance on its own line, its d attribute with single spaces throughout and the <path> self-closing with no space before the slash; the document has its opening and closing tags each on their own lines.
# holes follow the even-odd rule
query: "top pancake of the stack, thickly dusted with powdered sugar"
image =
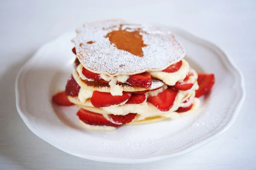
<svg viewBox="0 0 256 170">
<path fill-rule="evenodd" d="M 116 76 L 160 71 L 185 56 L 171 32 L 154 26 L 105 20 L 85 23 L 76 32 L 72 41 L 77 58 L 94 73 Z"/>
</svg>

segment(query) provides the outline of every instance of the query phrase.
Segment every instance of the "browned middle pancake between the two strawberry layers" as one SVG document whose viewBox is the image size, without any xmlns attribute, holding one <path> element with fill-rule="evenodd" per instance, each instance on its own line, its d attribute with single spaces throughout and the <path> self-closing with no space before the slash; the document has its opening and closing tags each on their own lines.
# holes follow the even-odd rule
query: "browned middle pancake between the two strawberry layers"
<svg viewBox="0 0 256 170">
<path fill-rule="evenodd" d="M 77 71 L 73 71 L 72 75 L 76 80 L 77 84 L 80 85 L 81 88 L 85 88 L 91 91 L 100 91 L 100 92 L 110 93 L 110 90 L 111 90 L 110 85 L 108 85 L 108 82 L 104 80 L 95 80 L 95 81 L 83 80 L 81 79 L 81 77 L 79 77 L 79 74 Z M 152 79 L 152 85 L 149 88 L 134 87 L 126 83 L 123 83 L 120 86 L 122 87 L 123 91 L 134 92 L 134 91 L 155 90 L 157 88 L 162 87 L 163 85 L 164 83 L 159 79 Z"/>
</svg>

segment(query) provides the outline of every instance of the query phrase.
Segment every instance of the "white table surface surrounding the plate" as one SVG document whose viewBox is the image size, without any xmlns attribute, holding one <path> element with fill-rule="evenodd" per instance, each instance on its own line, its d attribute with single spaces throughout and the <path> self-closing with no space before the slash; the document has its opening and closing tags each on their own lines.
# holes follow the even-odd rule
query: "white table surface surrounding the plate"
<svg viewBox="0 0 256 170">
<path fill-rule="evenodd" d="M 0 169 L 255 170 L 256 1 L 0 1 Z M 71 156 L 33 134 L 15 106 L 15 77 L 44 43 L 84 21 L 108 18 L 179 26 L 228 52 L 245 77 L 240 114 L 218 139 L 184 156 L 147 164 L 113 164 Z"/>
</svg>

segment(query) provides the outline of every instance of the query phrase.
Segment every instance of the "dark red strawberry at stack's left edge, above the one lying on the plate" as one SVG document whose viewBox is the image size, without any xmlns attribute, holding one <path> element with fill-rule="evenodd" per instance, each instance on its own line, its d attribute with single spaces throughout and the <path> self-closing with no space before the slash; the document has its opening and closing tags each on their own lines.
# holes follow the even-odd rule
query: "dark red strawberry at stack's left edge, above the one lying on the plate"
<svg viewBox="0 0 256 170">
<path fill-rule="evenodd" d="M 80 86 L 77 84 L 76 80 L 74 77 L 71 75 L 67 79 L 67 85 L 65 89 L 65 93 L 67 96 L 78 96 L 80 90 Z"/>
</svg>

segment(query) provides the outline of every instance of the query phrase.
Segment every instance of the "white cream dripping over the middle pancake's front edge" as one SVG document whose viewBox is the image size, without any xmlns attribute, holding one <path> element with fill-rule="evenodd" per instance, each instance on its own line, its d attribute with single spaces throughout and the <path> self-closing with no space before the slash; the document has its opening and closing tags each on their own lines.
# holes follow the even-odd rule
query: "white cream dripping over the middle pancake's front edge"
<svg viewBox="0 0 256 170">
<path fill-rule="evenodd" d="M 117 82 L 125 83 L 129 78 L 128 75 L 118 75 L 118 76 L 108 76 L 106 74 L 100 74 L 100 77 L 105 81 L 109 81 L 108 85 L 110 85 L 110 93 L 112 96 L 122 96 L 122 86 L 117 85 Z"/>
</svg>

